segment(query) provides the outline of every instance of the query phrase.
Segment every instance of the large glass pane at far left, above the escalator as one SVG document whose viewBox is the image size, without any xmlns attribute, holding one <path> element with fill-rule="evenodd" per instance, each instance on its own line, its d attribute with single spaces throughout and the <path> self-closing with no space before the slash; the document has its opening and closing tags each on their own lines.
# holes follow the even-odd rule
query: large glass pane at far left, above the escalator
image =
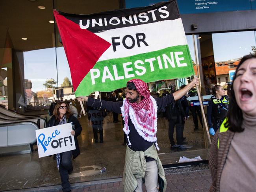
<svg viewBox="0 0 256 192">
<path fill-rule="evenodd" d="M 48 113 L 52 93 L 43 84 L 50 78 L 57 81 L 54 25 L 48 22 L 52 2 L 45 1 L 43 6 L 44 10 L 39 9 L 32 1 L 15 5 L 3 1 L 0 5 L 4 15 L 0 27 L 0 104 L 18 113 Z"/>
</svg>

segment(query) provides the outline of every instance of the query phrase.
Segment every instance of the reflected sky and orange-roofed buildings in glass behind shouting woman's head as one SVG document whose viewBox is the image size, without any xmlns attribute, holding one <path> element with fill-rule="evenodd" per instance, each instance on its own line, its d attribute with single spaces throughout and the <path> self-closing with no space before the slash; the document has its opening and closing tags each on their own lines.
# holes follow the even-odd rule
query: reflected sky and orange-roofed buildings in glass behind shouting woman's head
<svg viewBox="0 0 256 192">
<path fill-rule="evenodd" d="M 216 77 L 218 84 L 227 88 L 227 82 L 232 81 L 230 74 L 244 55 L 255 53 L 254 31 L 212 34 Z"/>
</svg>

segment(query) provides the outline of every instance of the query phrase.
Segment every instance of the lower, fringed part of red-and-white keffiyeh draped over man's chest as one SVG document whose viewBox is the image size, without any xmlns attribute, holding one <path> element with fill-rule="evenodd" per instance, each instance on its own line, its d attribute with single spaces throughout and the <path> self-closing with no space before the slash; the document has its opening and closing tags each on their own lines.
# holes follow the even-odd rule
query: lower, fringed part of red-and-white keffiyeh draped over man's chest
<svg viewBox="0 0 256 192">
<path fill-rule="evenodd" d="M 129 120 L 128 118 L 130 114 L 132 123 L 134 124 L 134 127 L 136 131 L 139 133 L 139 135 L 149 142 L 156 142 L 155 143 L 156 148 L 157 150 L 160 150 L 160 148 L 158 148 L 158 143 L 156 138 L 156 132 L 157 132 L 156 100 L 152 96 L 150 96 L 148 97 L 148 102 L 149 102 L 147 105 L 149 106 L 147 107 L 148 111 L 146 111 L 144 108 L 135 110 L 134 107 L 130 105 L 130 102 L 124 99 L 123 105 L 121 107 L 122 116 L 124 118 L 123 131 L 127 135 L 128 145 L 129 146 L 132 145 L 128 136 L 128 134 L 130 133 L 130 129 L 128 126 L 128 120 Z"/>
</svg>

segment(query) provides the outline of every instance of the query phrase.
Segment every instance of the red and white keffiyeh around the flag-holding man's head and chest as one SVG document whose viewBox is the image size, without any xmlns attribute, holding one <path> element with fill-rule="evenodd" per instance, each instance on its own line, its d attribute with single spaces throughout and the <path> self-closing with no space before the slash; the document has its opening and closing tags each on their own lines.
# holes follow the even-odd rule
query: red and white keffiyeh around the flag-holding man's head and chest
<svg viewBox="0 0 256 192">
<path fill-rule="evenodd" d="M 130 129 L 128 126 L 128 118 L 130 118 L 134 124 L 135 129 L 139 135 L 149 142 L 156 142 L 156 131 L 157 131 L 157 105 L 156 100 L 150 96 L 148 91 L 147 83 L 141 79 L 132 79 L 128 82 L 133 82 L 137 91 L 143 96 L 143 99 L 139 103 L 130 103 L 128 99 L 124 99 L 121 107 L 122 116 L 124 118 L 123 131 L 126 133 L 128 138 L 128 145 L 131 145 L 128 134 Z M 156 142 L 156 148 L 158 144 Z"/>
</svg>

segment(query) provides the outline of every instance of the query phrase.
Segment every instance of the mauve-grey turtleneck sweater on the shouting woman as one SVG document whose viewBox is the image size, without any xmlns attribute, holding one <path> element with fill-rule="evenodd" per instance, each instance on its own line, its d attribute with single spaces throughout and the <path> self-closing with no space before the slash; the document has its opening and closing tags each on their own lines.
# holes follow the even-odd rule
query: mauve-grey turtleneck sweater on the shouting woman
<svg viewBox="0 0 256 192">
<path fill-rule="evenodd" d="M 256 118 L 243 119 L 244 131 L 234 135 L 221 174 L 221 192 L 256 190 Z"/>
</svg>

